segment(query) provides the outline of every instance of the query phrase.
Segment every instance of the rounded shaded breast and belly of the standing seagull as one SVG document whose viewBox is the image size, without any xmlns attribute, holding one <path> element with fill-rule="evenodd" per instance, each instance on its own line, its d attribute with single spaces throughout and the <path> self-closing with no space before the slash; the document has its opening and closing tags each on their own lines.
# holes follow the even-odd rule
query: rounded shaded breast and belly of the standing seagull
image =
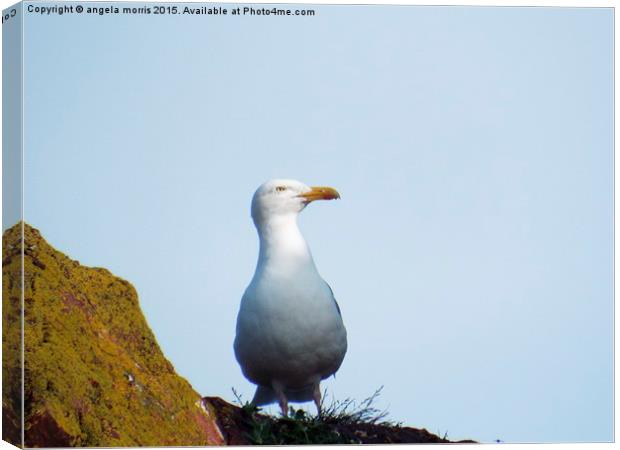
<svg viewBox="0 0 620 450">
<path fill-rule="evenodd" d="M 245 291 L 235 354 L 245 376 L 299 389 L 338 370 L 346 330 L 332 291 L 310 258 L 293 267 L 263 262 Z"/>
</svg>

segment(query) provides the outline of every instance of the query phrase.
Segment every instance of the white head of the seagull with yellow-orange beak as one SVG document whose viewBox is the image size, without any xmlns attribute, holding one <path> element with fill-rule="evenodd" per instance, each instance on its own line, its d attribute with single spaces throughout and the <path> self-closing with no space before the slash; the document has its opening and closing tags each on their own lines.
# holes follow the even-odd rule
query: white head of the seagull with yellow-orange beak
<svg viewBox="0 0 620 450">
<path fill-rule="evenodd" d="M 340 194 L 331 187 L 306 186 L 296 180 L 270 180 L 254 193 L 252 219 L 259 225 L 271 217 L 297 215 L 315 200 L 337 198 L 340 198 Z"/>
</svg>

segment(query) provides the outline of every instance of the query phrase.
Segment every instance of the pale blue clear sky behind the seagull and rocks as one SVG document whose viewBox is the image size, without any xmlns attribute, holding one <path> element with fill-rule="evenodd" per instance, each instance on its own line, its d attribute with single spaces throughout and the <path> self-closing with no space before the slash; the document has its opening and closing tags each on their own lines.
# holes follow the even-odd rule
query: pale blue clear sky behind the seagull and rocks
<svg viewBox="0 0 620 450">
<path fill-rule="evenodd" d="M 26 221 L 130 280 L 200 393 L 250 399 L 251 195 L 334 186 L 300 218 L 349 333 L 330 395 L 383 385 L 453 439 L 611 440 L 612 10 L 313 8 L 27 14 Z"/>
</svg>

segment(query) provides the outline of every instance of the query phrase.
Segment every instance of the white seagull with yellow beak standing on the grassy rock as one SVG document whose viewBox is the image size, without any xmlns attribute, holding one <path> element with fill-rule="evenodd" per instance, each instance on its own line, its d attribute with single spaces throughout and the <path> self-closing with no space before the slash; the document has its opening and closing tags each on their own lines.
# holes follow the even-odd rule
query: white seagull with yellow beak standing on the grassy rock
<svg viewBox="0 0 620 450">
<path fill-rule="evenodd" d="M 235 357 L 257 385 L 252 404 L 314 401 L 321 413 L 321 380 L 342 364 L 347 332 L 340 307 L 321 278 L 299 227 L 299 213 L 315 200 L 334 200 L 331 187 L 271 180 L 252 198 L 260 250 L 254 277 L 237 316 Z"/>
</svg>

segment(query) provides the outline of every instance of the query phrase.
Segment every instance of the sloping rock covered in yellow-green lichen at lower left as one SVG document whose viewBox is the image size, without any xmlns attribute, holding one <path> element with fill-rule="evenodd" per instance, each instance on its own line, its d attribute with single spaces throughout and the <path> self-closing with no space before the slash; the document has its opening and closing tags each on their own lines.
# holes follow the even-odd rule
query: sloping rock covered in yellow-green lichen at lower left
<svg viewBox="0 0 620 450">
<path fill-rule="evenodd" d="M 16 417 L 19 228 L 3 235 L 2 271 L 2 400 Z M 220 443 L 200 395 L 162 354 L 133 286 L 81 266 L 28 225 L 24 236 L 26 446 Z"/>
</svg>

